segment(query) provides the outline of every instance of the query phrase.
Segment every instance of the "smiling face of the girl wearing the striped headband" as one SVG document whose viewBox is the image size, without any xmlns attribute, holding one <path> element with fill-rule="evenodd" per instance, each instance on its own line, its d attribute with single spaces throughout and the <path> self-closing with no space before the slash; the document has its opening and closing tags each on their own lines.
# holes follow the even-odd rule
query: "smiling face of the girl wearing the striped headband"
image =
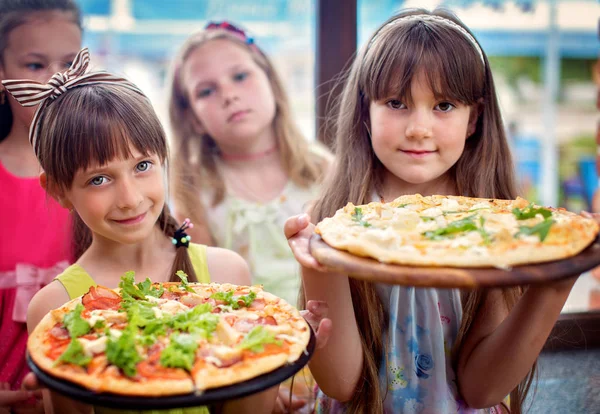
<svg viewBox="0 0 600 414">
<path fill-rule="evenodd" d="M 157 155 L 130 147 L 131 157 L 79 170 L 71 188 L 59 196 L 73 208 L 94 238 L 138 243 L 147 238 L 165 204 L 165 176 Z"/>
</svg>

